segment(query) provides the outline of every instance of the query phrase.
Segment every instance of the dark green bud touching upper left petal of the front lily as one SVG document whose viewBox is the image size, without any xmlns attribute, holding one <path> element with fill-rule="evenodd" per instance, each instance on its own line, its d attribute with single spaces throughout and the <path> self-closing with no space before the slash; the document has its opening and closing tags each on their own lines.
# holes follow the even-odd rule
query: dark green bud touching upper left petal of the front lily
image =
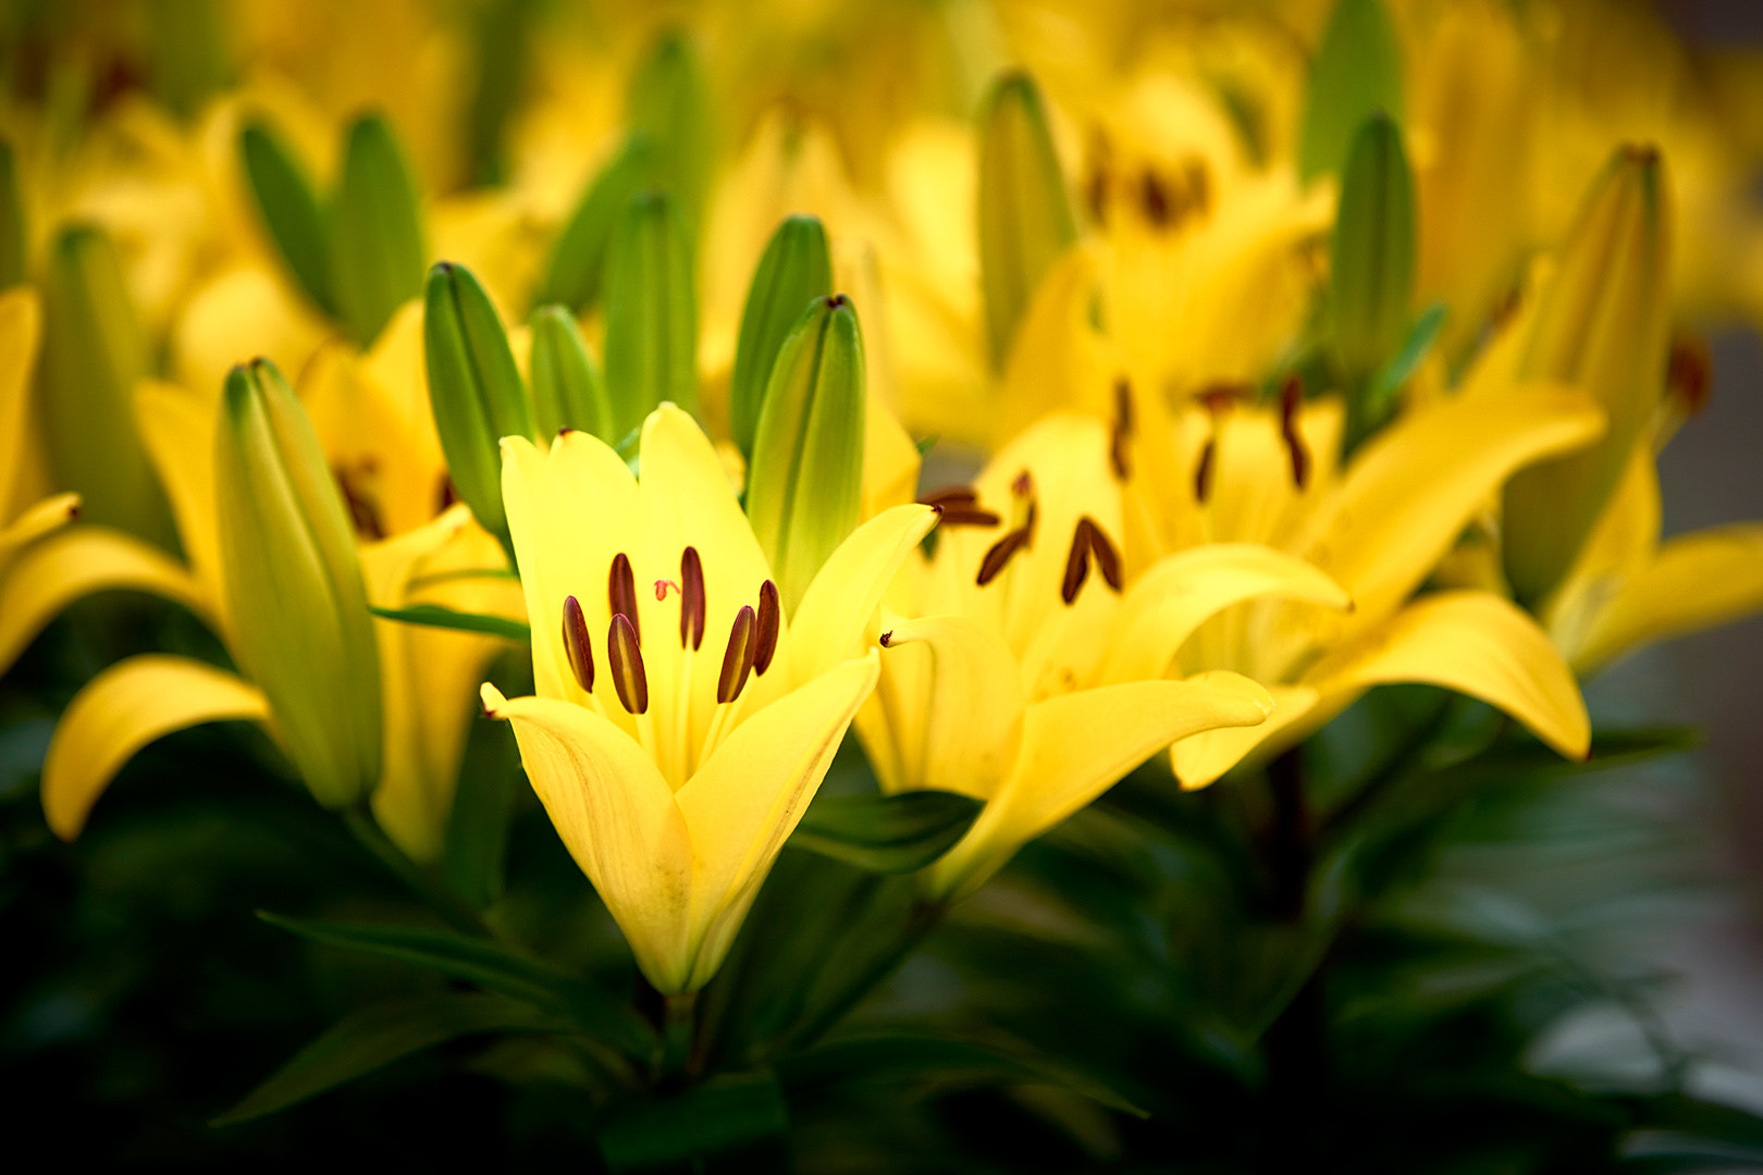
<svg viewBox="0 0 1763 1175">
<path fill-rule="evenodd" d="M 536 430 L 502 321 L 465 266 L 443 261 L 428 271 L 423 356 L 453 488 L 483 528 L 506 544 L 501 440 L 531 440 Z"/>
</svg>

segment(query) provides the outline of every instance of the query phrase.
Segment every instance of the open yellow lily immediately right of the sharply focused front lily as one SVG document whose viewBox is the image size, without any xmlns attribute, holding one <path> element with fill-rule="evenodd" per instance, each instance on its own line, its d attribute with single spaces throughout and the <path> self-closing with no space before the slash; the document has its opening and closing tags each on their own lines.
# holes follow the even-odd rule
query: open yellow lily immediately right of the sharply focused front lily
<svg viewBox="0 0 1763 1175">
<path fill-rule="evenodd" d="M 927 870 L 929 893 L 954 900 L 1148 756 L 1199 731 L 1253 728 L 1273 699 L 1232 673 L 1171 682 L 1162 666 L 1114 664 L 1116 636 L 1132 636 L 1123 617 L 1167 597 L 1199 624 L 1231 588 L 1220 595 L 1209 571 L 1181 567 L 1123 583 L 1121 491 L 1100 421 L 1047 418 L 971 490 L 933 500 L 945 525 L 934 555 L 906 560 L 887 597 L 882 680 L 857 733 L 883 791 L 986 802 Z"/>
</svg>

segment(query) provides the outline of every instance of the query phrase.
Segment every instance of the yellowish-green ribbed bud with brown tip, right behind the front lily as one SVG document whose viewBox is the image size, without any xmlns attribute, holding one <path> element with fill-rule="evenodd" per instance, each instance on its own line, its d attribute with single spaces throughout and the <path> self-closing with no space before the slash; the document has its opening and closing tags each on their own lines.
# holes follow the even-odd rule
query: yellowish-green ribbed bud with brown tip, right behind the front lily
<svg viewBox="0 0 1763 1175">
<path fill-rule="evenodd" d="M 864 407 L 857 308 L 844 294 L 816 298 L 777 352 L 748 469 L 748 518 L 786 613 L 857 528 Z"/>
</svg>

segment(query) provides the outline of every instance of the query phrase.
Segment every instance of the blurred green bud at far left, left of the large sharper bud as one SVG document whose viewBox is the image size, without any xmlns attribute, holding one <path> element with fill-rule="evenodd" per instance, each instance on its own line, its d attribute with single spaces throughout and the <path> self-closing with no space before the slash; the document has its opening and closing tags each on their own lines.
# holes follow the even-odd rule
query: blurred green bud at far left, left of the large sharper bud
<svg viewBox="0 0 1763 1175">
<path fill-rule="evenodd" d="M 146 340 L 100 229 L 72 227 L 55 241 L 44 328 L 42 403 L 56 481 L 81 495 L 86 521 L 176 550 L 171 511 L 134 428 Z"/>
</svg>

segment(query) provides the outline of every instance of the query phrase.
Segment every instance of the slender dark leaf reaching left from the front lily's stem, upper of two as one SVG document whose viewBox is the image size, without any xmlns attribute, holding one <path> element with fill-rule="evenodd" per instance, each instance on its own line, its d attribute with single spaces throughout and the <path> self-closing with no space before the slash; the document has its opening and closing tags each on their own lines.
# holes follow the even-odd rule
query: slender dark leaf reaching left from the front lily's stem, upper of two
<svg viewBox="0 0 1763 1175">
<path fill-rule="evenodd" d="M 656 1046 L 649 1025 L 599 988 L 541 962 L 515 955 L 488 939 L 471 939 L 425 927 L 282 918 L 264 911 L 259 911 L 257 918 L 314 942 L 397 958 L 453 979 L 476 983 L 510 999 L 525 1001 L 543 1011 L 569 1016 L 592 1036 L 629 1057 L 647 1057 Z"/>
</svg>

